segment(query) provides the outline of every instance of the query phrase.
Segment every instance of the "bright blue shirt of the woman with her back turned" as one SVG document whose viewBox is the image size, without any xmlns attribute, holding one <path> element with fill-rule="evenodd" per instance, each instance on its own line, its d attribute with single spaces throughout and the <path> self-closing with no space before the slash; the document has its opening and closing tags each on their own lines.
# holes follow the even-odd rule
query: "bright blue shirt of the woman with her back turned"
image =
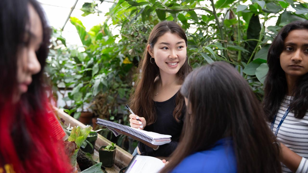
<svg viewBox="0 0 308 173">
<path fill-rule="evenodd" d="M 215 143 L 213 148 L 187 156 L 172 170 L 172 173 L 182 172 L 237 172 L 237 162 L 234 155 L 232 139 L 220 139 Z"/>
</svg>

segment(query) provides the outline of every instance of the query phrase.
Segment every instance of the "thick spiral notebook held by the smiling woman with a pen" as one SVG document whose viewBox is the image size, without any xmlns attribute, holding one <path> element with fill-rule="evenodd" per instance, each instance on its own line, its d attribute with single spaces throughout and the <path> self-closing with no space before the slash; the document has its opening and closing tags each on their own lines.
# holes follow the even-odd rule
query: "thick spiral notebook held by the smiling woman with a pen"
<svg viewBox="0 0 308 173">
<path fill-rule="evenodd" d="M 128 127 L 128 126 L 125 126 L 123 124 L 108 121 L 108 120 L 105 120 L 105 119 L 97 118 L 96 124 L 107 127 L 109 130 L 111 130 L 113 132 L 113 134 L 115 134 L 115 136 L 125 135 L 125 134 L 122 134 L 119 131 L 115 131 L 115 129 L 118 129 L 118 130 L 124 131 L 124 132 L 126 132 L 126 133 L 128 133 L 132 136 L 135 136 L 138 139 L 141 139 L 143 141 L 151 143 L 153 145 L 163 145 L 163 144 L 171 142 L 171 136 L 170 135 L 162 135 L 162 134 L 159 134 L 159 133 L 144 131 L 144 130 Z"/>
</svg>

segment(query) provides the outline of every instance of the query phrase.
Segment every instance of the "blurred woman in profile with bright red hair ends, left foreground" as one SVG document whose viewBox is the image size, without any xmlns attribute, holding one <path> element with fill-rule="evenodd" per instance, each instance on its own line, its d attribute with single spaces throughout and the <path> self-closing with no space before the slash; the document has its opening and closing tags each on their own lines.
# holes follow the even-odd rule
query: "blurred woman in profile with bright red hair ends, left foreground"
<svg viewBox="0 0 308 173">
<path fill-rule="evenodd" d="M 0 1 L 1 173 L 71 171 L 43 84 L 49 39 L 38 2 Z"/>
</svg>

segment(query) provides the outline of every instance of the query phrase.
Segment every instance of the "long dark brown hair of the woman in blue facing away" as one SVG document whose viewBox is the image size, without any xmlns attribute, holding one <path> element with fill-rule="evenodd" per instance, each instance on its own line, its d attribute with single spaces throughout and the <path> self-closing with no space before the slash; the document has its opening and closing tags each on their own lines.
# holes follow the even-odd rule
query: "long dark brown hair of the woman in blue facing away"
<svg viewBox="0 0 308 173">
<path fill-rule="evenodd" d="M 180 144 L 161 172 L 226 137 L 233 140 L 237 172 L 281 172 L 276 139 L 257 98 L 234 67 L 225 62 L 202 66 L 186 77 L 180 92 L 188 98 L 191 114 L 186 114 Z"/>
</svg>

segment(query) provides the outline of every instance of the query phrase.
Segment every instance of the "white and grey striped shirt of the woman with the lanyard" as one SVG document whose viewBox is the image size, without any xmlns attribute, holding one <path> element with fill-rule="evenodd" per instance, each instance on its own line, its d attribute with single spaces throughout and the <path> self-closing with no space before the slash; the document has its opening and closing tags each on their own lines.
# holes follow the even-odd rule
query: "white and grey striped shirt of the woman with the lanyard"
<svg viewBox="0 0 308 173">
<path fill-rule="evenodd" d="M 281 107 L 278 110 L 277 118 L 274 123 L 273 133 L 275 133 L 278 124 L 289 107 L 292 96 L 286 96 Z M 302 119 L 294 117 L 293 112 L 289 112 L 277 134 L 277 140 L 282 142 L 290 150 L 302 157 L 296 173 L 308 172 L 308 111 Z M 282 164 L 282 172 L 292 173 Z"/>
</svg>

